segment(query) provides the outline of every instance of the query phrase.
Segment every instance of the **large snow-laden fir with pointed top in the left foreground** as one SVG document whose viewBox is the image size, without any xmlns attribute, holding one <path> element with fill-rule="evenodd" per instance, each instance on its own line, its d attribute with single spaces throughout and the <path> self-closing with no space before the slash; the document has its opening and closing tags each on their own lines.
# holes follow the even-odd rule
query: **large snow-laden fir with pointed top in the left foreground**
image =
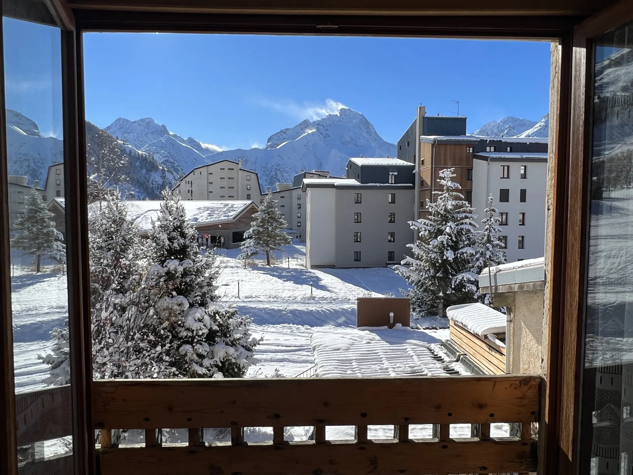
<svg viewBox="0 0 633 475">
<path fill-rule="evenodd" d="M 213 254 L 201 255 L 197 232 L 180 198 L 163 191 L 163 203 L 149 231 L 148 272 L 154 307 L 148 317 L 167 322 L 171 340 L 164 365 L 180 377 L 241 377 L 254 363 L 251 319 L 216 300 Z M 160 373 L 158 377 L 161 377 Z"/>
</svg>

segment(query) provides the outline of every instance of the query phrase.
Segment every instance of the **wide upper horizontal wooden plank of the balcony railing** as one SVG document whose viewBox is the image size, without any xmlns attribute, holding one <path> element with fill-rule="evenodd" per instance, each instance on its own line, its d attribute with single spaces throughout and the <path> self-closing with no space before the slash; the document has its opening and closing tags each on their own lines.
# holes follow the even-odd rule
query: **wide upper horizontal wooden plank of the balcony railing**
<svg viewBox="0 0 633 475">
<path fill-rule="evenodd" d="M 93 421 L 97 429 L 536 422 L 540 381 L 511 375 L 99 380 L 92 384 Z"/>
</svg>

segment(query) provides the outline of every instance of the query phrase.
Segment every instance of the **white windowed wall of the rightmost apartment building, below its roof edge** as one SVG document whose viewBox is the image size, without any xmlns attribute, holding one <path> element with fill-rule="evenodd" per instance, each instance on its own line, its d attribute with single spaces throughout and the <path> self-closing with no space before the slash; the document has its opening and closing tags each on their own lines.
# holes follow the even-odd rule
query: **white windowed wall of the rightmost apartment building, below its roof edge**
<svg viewBox="0 0 633 475">
<path fill-rule="evenodd" d="M 501 165 L 510 166 L 510 178 L 501 178 Z M 527 165 L 527 178 L 520 178 L 521 165 Z M 547 162 L 487 162 L 473 160 L 473 206 L 480 223 L 492 193 L 499 213 L 508 213 L 508 225 L 500 226 L 502 236 L 508 237 L 508 262 L 542 257 L 545 248 L 545 196 Z M 510 189 L 510 202 L 499 203 L 499 189 Z M 520 189 L 527 190 L 525 203 L 519 201 Z M 525 212 L 525 225 L 518 224 L 518 213 Z M 525 236 L 524 248 L 518 248 L 518 236 Z"/>
</svg>

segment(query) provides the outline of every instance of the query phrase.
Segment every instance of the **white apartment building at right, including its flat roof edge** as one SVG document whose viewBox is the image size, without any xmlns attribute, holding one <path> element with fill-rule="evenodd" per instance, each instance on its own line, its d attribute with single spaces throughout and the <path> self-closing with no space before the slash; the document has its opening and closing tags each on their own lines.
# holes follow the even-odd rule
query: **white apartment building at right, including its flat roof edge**
<svg viewBox="0 0 633 475">
<path fill-rule="evenodd" d="M 508 262 L 544 255 L 547 162 L 547 153 L 473 153 L 472 205 L 477 222 L 492 194 Z"/>
</svg>

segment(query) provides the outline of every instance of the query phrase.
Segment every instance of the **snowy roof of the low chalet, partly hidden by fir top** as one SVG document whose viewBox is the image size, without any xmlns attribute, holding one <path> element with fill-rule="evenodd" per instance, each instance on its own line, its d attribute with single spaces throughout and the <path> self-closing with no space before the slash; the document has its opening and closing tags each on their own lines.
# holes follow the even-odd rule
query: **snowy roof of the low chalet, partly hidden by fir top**
<svg viewBox="0 0 633 475">
<path fill-rule="evenodd" d="M 156 220 L 162 201 L 127 201 L 128 215 L 136 222 L 141 231 L 151 229 L 151 220 Z M 239 213 L 254 204 L 253 201 L 185 201 L 180 203 L 185 208 L 187 219 L 192 225 L 216 224 L 231 221 Z M 93 204 L 91 206 L 96 205 Z"/>
</svg>

